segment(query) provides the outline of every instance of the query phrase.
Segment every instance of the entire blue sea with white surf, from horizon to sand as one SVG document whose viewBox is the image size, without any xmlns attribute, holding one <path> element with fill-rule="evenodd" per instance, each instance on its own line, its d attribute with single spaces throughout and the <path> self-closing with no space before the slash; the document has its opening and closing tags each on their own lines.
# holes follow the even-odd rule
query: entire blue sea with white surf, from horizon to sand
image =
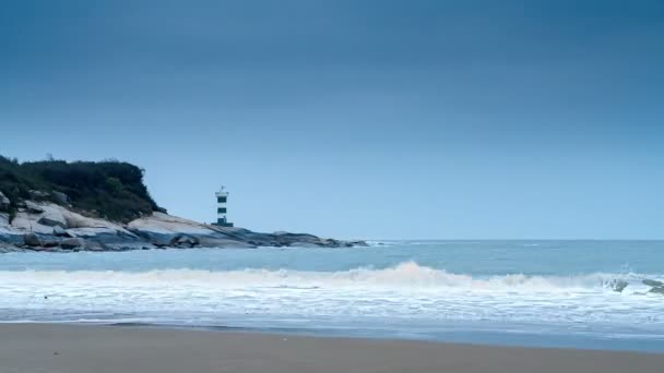
<svg viewBox="0 0 664 373">
<path fill-rule="evenodd" d="M 664 280 L 664 241 L 9 253 L 0 322 L 664 351 L 643 279 Z"/>
</svg>

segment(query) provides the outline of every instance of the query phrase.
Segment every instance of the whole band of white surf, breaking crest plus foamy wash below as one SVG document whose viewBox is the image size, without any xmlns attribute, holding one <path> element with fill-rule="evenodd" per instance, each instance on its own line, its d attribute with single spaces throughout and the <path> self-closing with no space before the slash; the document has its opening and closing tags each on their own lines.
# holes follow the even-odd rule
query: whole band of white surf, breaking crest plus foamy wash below
<svg viewBox="0 0 664 373">
<path fill-rule="evenodd" d="M 664 297 L 647 294 L 648 287 L 640 284 L 643 277 L 656 278 L 638 274 L 473 277 L 414 262 L 344 272 L 0 272 L 0 320 L 24 320 L 35 312 L 52 320 L 80 320 L 81 314 L 97 312 L 117 317 L 156 312 L 182 320 L 201 314 L 205 320 L 382 317 L 388 323 L 627 325 L 664 333 Z M 622 293 L 608 286 L 614 279 L 629 282 Z"/>
</svg>

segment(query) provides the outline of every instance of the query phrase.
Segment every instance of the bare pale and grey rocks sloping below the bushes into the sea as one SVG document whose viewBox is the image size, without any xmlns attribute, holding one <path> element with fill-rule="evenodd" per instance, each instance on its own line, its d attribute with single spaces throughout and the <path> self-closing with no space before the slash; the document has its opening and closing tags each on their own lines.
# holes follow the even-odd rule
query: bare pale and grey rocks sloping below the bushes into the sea
<svg viewBox="0 0 664 373">
<path fill-rule="evenodd" d="M 5 214 L 7 215 L 7 214 Z M 260 233 L 155 212 L 127 225 L 91 218 L 50 202 L 25 201 L 12 221 L 0 216 L 0 252 L 19 250 L 122 251 L 157 248 L 348 248 L 361 241 L 312 234 Z"/>
</svg>

